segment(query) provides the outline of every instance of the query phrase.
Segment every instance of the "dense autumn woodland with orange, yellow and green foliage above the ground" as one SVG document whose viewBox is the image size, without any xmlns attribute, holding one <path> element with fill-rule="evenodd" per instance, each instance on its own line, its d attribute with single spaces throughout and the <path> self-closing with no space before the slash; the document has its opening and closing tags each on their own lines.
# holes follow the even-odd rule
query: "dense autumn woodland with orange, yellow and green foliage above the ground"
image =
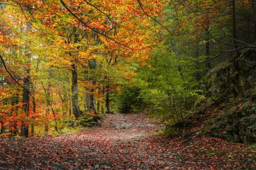
<svg viewBox="0 0 256 170">
<path fill-rule="evenodd" d="M 0 5 L 3 136 L 57 135 L 136 112 L 161 118 L 170 135 L 199 108 L 254 87 L 234 83 L 246 67 L 239 58 L 256 47 L 254 0 Z M 234 86 L 218 89 L 227 66 Z"/>
</svg>

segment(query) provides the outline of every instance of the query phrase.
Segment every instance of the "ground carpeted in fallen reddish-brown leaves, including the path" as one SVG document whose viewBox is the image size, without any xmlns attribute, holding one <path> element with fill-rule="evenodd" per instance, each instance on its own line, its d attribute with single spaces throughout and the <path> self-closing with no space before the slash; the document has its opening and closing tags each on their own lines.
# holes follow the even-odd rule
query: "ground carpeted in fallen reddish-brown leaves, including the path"
<svg viewBox="0 0 256 170">
<path fill-rule="evenodd" d="M 0 169 L 256 169 L 256 147 L 165 138 L 161 129 L 143 114 L 119 114 L 76 134 L 0 139 Z"/>
</svg>

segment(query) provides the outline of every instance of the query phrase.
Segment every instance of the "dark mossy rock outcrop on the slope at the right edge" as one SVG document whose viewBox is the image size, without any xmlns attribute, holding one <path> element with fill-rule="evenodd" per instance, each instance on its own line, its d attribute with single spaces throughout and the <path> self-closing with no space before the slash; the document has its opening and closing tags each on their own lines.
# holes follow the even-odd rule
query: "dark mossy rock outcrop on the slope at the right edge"
<svg viewBox="0 0 256 170">
<path fill-rule="evenodd" d="M 206 123 L 205 132 L 233 141 L 256 142 L 256 50 L 245 51 L 211 77 L 213 96 L 226 105 L 220 116 Z"/>
</svg>

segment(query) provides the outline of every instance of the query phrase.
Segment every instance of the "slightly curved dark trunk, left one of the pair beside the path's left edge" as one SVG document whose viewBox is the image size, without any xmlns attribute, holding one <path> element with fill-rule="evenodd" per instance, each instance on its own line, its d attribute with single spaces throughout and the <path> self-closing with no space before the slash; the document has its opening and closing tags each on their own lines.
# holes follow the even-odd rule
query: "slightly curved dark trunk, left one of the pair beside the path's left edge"
<svg viewBox="0 0 256 170">
<path fill-rule="evenodd" d="M 81 111 L 78 106 L 78 86 L 77 86 L 77 69 L 76 65 L 72 64 L 72 85 L 71 85 L 71 100 L 72 100 L 72 109 L 73 114 L 75 115 L 76 119 L 81 117 Z"/>
</svg>

